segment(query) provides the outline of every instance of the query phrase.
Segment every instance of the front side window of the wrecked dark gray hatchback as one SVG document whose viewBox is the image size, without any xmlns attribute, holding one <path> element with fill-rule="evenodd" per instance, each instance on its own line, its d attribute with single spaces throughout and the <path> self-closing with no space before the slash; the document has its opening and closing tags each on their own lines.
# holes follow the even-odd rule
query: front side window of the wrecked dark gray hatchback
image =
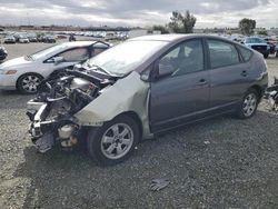
<svg viewBox="0 0 278 209">
<path fill-rule="evenodd" d="M 160 69 L 172 69 L 172 76 L 187 74 L 203 70 L 201 40 L 190 40 L 172 49 L 159 61 Z"/>
</svg>

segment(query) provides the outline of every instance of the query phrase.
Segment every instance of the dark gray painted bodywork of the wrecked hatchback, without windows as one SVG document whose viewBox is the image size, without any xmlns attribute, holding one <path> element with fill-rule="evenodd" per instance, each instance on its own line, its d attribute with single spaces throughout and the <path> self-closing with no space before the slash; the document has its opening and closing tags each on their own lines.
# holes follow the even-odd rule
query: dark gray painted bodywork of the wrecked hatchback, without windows
<svg viewBox="0 0 278 209">
<path fill-rule="evenodd" d="M 229 40 L 211 36 L 153 36 L 142 37 L 136 40 L 162 40 L 169 42 L 165 48 L 149 58 L 136 71 L 142 73 L 151 63 L 159 60 L 173 46 L 190 39 L 214 38 L 237 46 Z M 207 48 L 206 48 L 207 49 Z M 159 132 L 172 127 L 180 126 L 203 118 L 235 111 L 244 94 L 251 87 L 257 87 L 264 92 L 268 83 L 268 76 L 264 58 L 254 51 L 248 62 L 210 69 L 208 51 L 205 51 L 205 71 L 167 77 L 151 80 L 150 84 L 150 127 L 152 132 Z M 153 64 L 156 66 L 156 64 Z M 151 69 L 151 73 L 156 71 Z M 200 80 L 206 80 L 205 86 L 198 86 Z"/>
</svg>

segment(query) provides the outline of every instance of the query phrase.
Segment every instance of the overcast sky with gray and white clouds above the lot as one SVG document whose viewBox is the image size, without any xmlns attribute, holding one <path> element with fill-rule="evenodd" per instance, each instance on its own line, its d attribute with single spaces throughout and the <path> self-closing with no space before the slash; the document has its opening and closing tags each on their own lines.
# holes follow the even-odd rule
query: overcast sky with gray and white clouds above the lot
<svg viewBox="0 0 278 209">
<path fill-rule="evenodd" d="M 193 13 L 196 28 L 237 27 L 242 18 L 278 27 L 278 0 L 0 0 L 0 24 L 146 27 L 166 24 L 173 10 Z"/>
</svg>

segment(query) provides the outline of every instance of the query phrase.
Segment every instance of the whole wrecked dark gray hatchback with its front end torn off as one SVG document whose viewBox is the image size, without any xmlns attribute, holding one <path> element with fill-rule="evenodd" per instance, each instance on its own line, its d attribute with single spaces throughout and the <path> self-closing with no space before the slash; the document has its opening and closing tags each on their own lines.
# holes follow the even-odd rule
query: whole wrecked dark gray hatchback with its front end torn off
<svg viewBox="0 0 278 209">
<path fill-rule="evenodd" d="M 255 115 L 268 83 L 262 56 L 222 38 L 141 37 L 41 83 L 28 102 L 40 152 L 85 142 L 101 165 L 130 157 L 141 139 L 235 112 Z"/>
</svg>

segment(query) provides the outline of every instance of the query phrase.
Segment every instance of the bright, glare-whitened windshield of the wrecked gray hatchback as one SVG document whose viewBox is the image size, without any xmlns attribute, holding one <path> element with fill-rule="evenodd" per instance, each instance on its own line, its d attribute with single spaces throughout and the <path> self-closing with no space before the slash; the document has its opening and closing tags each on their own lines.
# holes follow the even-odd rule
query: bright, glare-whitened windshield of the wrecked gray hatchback
<svg viewBox="0 0 278 209">
<path fill-rule="evenodd" d="M 98 66 L 111 74 L 125 76 L 167 43 L 163 41 L 127 41 L 91 58 L 87 64 Z"/>
</svg>

